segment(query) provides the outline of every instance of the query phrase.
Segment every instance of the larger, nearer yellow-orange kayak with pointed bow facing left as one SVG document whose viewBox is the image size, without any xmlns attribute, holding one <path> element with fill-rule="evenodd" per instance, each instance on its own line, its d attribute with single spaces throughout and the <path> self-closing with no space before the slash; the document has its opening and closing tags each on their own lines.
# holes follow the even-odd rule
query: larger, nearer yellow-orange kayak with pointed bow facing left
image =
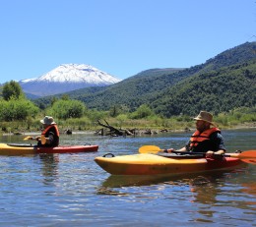
<svg viewBox="0 0 256 227">
<path fill-rule="evenodd" d="M 231 153 L 218 159 L 193 156 L 162 156 L 151 153 L 139 153 L 122 156 L 96 157 L 96 163 L 112 175 L 160 175 L 206 172 L 231 169 L 244 162 L 240 154 Z M 237 157 L 236 157 L 237 156 Z"/>
</svg>

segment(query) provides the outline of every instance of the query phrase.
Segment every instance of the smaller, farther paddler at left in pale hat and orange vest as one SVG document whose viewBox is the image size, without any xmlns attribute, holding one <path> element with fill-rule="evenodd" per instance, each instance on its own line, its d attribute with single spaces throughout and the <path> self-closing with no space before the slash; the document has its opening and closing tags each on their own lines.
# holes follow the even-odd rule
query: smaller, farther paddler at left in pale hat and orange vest
<svg viewBox="0 0 256 227">
<path fill-rule="evenodd" d="M 53 147 L 59 145 L 59 130 L 57 124 L 50 116 L 45 116 L 40 120 L 43 131 L 41 136 L 37 136 L 34 139 L 37 141 L 37 146 Z"/>
</svg>

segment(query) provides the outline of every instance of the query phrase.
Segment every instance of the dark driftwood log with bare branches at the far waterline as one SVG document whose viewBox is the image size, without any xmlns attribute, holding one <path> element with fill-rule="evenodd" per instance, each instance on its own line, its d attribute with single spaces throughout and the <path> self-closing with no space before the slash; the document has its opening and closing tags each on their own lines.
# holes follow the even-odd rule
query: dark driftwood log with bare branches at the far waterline
<svg viewBox="0 0 256 227">
<path fill-rule="evenodd" d="M 99 122 L 99 120 L 97 120 L 97 124 L 107 129 L 107 131 L 105 131 L 104 129 L 100 129 L 96 132 L 96 134 L 101 136 L 112 136 L 112 137 L 118 137 L 118 136 L 126 137 L 126 136 L 134 135 L 129 130 L 116 129 L 113 126 L 110 126 L 106 120 L 104 120 L 104 122 L 105 124 L 102 124 L 101 122 Z"/>
</svg>

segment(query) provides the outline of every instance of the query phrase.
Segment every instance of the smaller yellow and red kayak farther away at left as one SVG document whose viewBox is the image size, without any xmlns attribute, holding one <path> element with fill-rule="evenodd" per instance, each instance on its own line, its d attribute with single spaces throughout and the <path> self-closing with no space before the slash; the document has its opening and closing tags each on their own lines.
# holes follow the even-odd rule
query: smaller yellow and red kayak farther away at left
<svg viewBox="0 0 256 227">
<path fill-rule="evenodd" d="M 37 153 L 77 153 L 97 151 L 98 145 L 59 145 L 36 147 L 31 144 L 0 143 L 0 155 L 28 155 Z"/>
</svg>

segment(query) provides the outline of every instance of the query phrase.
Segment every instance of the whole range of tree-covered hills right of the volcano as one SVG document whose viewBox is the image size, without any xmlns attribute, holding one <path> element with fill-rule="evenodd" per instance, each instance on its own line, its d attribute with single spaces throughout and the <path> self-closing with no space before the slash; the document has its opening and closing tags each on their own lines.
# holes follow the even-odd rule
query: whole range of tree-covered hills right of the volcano
<svg viewBox="0 0 256 227">
<path fill-rule="evenodd" d="M 255 61 L 256 42 L 246 42 L 189 69 L 147 70 L 115 85 L 67 94 L 97 110 L 119 106 L 134 111 L 147 104 L 162 116 L 252 107 L 256 103 Z M 36 103 L 43 106 L 51 99 L 37 99 Z"/>
</svg>

